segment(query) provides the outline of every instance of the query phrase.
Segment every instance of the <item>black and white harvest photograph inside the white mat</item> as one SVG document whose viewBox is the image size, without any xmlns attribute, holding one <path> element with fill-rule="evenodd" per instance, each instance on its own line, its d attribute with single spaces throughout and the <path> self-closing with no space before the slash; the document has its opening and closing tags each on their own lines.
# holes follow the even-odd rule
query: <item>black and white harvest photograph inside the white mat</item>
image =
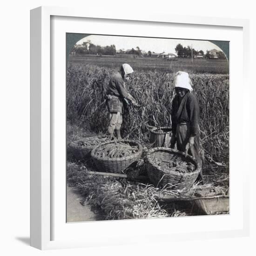
<svg viewBox="0 0 256 256">
<path fill-rule="evenodd" d="M 66 36 L 67 222 L 229 214 L 229 41 Z"/>
</svg>

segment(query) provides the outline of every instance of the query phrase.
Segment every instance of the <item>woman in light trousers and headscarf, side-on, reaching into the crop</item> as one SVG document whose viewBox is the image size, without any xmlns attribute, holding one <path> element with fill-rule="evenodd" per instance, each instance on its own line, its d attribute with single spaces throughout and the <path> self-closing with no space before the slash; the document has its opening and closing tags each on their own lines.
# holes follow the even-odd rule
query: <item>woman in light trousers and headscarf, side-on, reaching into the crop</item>
<svg viewBox="0 0 256 256">
<path fill-rule="evenodd" d="M 129 100 L 133 105 L 136 105 L 134 97 L 128 93 L 125 88 L 125 81 L 134 71 L 132 67 L 125 63 L 121 65 L 118 72 L 114 73 L 110 78 L 107 90 L 107 106 L 109 111 L 108 134 L 111 138 L 116 133 L 117 139 L 121 139 L 121 124 L 123 114 L 123 101 Z"/>
</svg>

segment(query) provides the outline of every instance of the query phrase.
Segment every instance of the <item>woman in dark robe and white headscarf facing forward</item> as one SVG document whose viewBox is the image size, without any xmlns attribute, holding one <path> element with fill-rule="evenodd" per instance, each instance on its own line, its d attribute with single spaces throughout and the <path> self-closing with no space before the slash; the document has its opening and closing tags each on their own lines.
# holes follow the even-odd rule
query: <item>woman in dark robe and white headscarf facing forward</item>
<svg viewBox="0 0 256 256">
<path fill-rule="evenodd" d="M 189 74 L 182 71 L 177 72 L 174 85 L 176 95 L 172 102 L 171 112 L 171 148 L 174 148 L 176 142 L 177 149 L 185 152 L 186 145 L 189 143 L 189 154 L 195 156 L 202 167 L 199 154 L 199 105 L 195 95 L 191 93 L 193 84 Z"/>
</svg>

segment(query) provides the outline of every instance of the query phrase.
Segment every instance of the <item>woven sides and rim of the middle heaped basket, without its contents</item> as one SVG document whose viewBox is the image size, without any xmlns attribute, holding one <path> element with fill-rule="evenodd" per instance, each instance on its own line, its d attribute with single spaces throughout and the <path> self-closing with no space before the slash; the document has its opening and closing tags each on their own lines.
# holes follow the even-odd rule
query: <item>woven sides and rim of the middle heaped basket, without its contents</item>
<svg viewBox="0 0 256 256">
<path fill-rule="evenodd" d="M 99 157 L 96 155 L 97 150 L 99 147 L 104 147 L 109 143 L 118 143 L 118 141 L 109 141 L 106 143 L 101 144 L 98 147 L 95 147 L 92 152 L 91 156 L 96 165 L 96 168 L 100 172 L 111 172 L 111 173 L 122 173 L 126 168 L 128 168 L 132 163 L 139 161 L 142 154 L 142 146 L 137 141 L 132 140 L 121 140 L 120 142 L 129 144 L 131 146 L 138 146 L 138 152 L 119 158 L 110 158 L 110 157 Z"/>
</svg>

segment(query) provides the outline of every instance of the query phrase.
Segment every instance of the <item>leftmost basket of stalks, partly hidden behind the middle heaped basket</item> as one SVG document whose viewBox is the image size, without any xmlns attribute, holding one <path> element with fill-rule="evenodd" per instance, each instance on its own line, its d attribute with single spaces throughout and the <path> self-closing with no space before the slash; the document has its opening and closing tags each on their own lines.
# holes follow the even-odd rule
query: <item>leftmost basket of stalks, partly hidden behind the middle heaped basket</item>
<svg viewBox="0 0 256 256">
<path fill-rule="evenodd" d="M 93 144 L 85 145 L 88 141 L 94 141 Z M 91 136 L 82 138 L 79 141 L 72 141 L 67 146 L 67 158 L 73 158 L 77 161 L 84 161 L 91 157 L 92 149 L 101 143 L 109 141 L 109 136 Z"/>
</svg>

